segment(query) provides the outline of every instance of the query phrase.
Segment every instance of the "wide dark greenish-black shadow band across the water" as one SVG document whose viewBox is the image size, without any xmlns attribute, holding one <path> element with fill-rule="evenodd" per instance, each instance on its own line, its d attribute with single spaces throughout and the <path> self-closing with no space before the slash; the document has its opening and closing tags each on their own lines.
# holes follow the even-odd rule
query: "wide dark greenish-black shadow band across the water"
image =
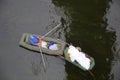
<svg viewBox="0 0 120 80">
<path fill-rule="evenodd" d="M 52 0 L 52 2 L 65 10 L 70 16 L 70 31 L 65 34 L 66 41 L 75 46 L 80 46 L 83 51 L 95 58 L 95 67 L 92 70 L 96 80 L 109 80 L 113 52 L 111 50 L 115 40 L 115 31 L 109 31 L 107 10 L 111 0 Z M 72 69 L 66 63 L 68 80 L 87 79 L 89 76 L 81 76 L 78 69 Z M 72 70 L 71 70 L 72 69 Z M 76 72 L 76 73 L 75 73 Z"/>
</svg>

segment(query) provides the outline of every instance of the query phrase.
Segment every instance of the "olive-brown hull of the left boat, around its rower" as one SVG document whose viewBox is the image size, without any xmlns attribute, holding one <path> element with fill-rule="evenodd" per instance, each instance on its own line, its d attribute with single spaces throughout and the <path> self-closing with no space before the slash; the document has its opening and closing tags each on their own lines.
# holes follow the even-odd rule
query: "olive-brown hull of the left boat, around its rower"
<svg viewBox="0 0 120 80">
<path fill-rule="evenodd" d="M 23 33 L 23 35 L 21 37 L 21 40 L 19 42 L 19 45 L 21 47 L 24 47 L 24 48 L 28 49 L 28 50 L 35 51 L 35 52 L 40 52 L 38 46 L 34 46 L 34 45 L 31 45 L 29 43 L 30 35 L 33 35 L 33 34 Z M 41 35 L 37 35 L 37 36 L 42 37 Z M 53 41 L 53 42 L 57 43 L 60 47 L 60 50 L 50 50 L 50 49 L 46 49 L 46 48 L 41 48 L 43 53 L 50 54 L 50 55 L 63 55 L 63 51 L 64 51 L 64 48 L 66 46 L 66 43 L 64 41 L 53 39 L 53 38 L 50 38 L 50 37 L 44 37 L 43 39 L 48 41 L 48 42 Z"/>
</svg>

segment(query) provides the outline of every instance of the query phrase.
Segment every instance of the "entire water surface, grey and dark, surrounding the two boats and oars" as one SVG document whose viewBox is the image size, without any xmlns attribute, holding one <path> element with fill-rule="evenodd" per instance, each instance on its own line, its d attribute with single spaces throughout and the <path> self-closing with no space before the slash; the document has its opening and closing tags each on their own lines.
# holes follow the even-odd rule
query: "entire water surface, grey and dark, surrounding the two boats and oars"
<svg viewBox="0 0 120 80">
<path fill-rule="evenodd" d="M 22 33 L 62 39 L 95 58 L 96 80 L 119 80 L 119 0 L 2 0 L 0 1 L 0 80 L 94 80 L 72 64 L 19 47 Z"/>
</svg>

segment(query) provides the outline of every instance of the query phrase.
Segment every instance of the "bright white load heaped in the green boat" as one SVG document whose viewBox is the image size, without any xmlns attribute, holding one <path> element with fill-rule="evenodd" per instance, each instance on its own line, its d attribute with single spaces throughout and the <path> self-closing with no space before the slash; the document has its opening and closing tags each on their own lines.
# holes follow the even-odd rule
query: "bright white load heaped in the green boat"
<svg viewBox="0 0 120 80">
<path fill-rule="evenodd" d="M 82 67 L 89 69 L 91 60 L 90 58 L 86 57 L 85 53 L 70 45 L 67 54 L 72 62 L 77 62 Z"/>
</svg>

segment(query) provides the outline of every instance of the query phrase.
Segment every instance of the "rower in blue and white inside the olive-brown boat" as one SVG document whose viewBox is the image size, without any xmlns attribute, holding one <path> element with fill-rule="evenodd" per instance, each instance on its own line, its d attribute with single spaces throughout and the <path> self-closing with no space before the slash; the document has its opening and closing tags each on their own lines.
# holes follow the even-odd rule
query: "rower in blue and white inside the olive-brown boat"
<svg viewBox="0 0 120 80">
<path fill-rule="evenodd" d="M 47 42 L 44 39 L 38 37 L 37 35 L 31 35 L 29 38 L 29 42 L 31 45 L 34 46 L 39 46 L 50 50 L 59 50 L 58 45 L 55 42 Z"/>
</svg>

